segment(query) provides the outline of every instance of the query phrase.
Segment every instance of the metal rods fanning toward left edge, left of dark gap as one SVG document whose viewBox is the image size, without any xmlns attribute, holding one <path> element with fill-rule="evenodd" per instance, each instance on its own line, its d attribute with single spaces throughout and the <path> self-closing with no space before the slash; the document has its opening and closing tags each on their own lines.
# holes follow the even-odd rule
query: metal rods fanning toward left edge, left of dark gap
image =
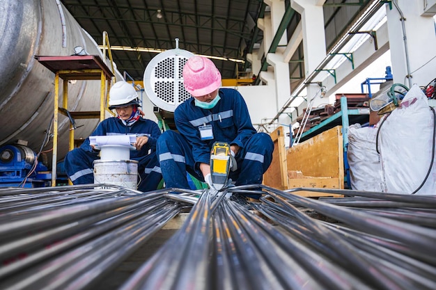
<svg viewBox="0 0 436 290">
<path fill-rule="evenodd" d="M 102 184 L 0 190 L 0 289 L 84 289 L 186 203 Z"/>
</svg>

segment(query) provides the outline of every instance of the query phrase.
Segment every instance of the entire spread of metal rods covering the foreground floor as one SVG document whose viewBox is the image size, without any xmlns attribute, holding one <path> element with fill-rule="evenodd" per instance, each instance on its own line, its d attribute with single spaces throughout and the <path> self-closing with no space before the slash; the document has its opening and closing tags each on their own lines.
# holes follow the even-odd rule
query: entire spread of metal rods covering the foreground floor
<svg viewBox="0 0 436 290">
<path fill-rule="evenodd" d="M 189 204 L 121 290 L 436 289 L 436 196 L 260 187 L 0 191 L 0 289 L 91 289 Z"/>
</svg>

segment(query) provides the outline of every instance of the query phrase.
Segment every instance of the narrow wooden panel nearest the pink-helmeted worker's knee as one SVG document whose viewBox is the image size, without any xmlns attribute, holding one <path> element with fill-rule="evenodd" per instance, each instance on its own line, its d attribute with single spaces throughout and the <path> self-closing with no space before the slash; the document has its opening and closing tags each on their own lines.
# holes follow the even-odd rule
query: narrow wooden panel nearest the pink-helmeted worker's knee
<svg viewBox="0 0 436 290">
<path fill-rule="evenodd" d="M 288 169 L 286 167 L 285 133 L 278 127 L 270 134 L 274 142 L 274 152 L 270 168 L 263 174 L 263 184 L 280 190 L 288 189 Z"/>
</svg>

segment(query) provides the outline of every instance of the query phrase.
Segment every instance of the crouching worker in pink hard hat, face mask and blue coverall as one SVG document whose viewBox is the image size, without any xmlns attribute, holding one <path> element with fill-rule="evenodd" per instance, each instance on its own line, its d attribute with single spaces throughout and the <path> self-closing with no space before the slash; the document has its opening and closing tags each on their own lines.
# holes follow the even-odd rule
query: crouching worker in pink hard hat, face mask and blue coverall
<svg viewBox="0 0 436 290">
<path fill-rule="evenodd" d="M 157 155 L 166 188 L 189 188 L 186 172 L 209 186 L 210 152 L 215 141 L 231 148 L 231 178 L 236 186 L 261 184 L 274 145 L 269 135 L 256 133 L 247 104 L 232 88 L 221 88 L 221 74 L 208 58 L 192 56 L 183 67 L 183 83 L 193 96 L 174 112 L 176 131 L 157 141 Z M 259 198 L 260 195 L 248 195 Z"/>
</svg>

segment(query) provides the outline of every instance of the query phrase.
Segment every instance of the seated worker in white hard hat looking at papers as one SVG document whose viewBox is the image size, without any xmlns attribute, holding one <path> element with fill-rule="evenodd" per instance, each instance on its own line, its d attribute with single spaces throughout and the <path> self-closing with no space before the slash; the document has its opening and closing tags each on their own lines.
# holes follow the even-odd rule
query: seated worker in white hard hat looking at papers
<svg viewBox="0 0 436 290">
<path fill-rule="evenodd" d="M 138 161 L 141 182 L 139 191 L 153 191 L 162 179 L 156 156 L 156 140 L 161 132 L 157 124 L 144 119 L 139 110 L 140 103 L 136 90 L 130 83 L 118 81 L 109 90 L 109 109 L 116 110 L 117 116 L 103 120 L 91 136 L 136 134 L 133 144 L 137 150 L 130 150 L 130 159 Z M 89 144 L 89 138 L 78 148 L 65 156 L 65 171 L 73 184 L 94 183 L 93 161 L 99 159 L 98 150 Z"/>
</svg>

